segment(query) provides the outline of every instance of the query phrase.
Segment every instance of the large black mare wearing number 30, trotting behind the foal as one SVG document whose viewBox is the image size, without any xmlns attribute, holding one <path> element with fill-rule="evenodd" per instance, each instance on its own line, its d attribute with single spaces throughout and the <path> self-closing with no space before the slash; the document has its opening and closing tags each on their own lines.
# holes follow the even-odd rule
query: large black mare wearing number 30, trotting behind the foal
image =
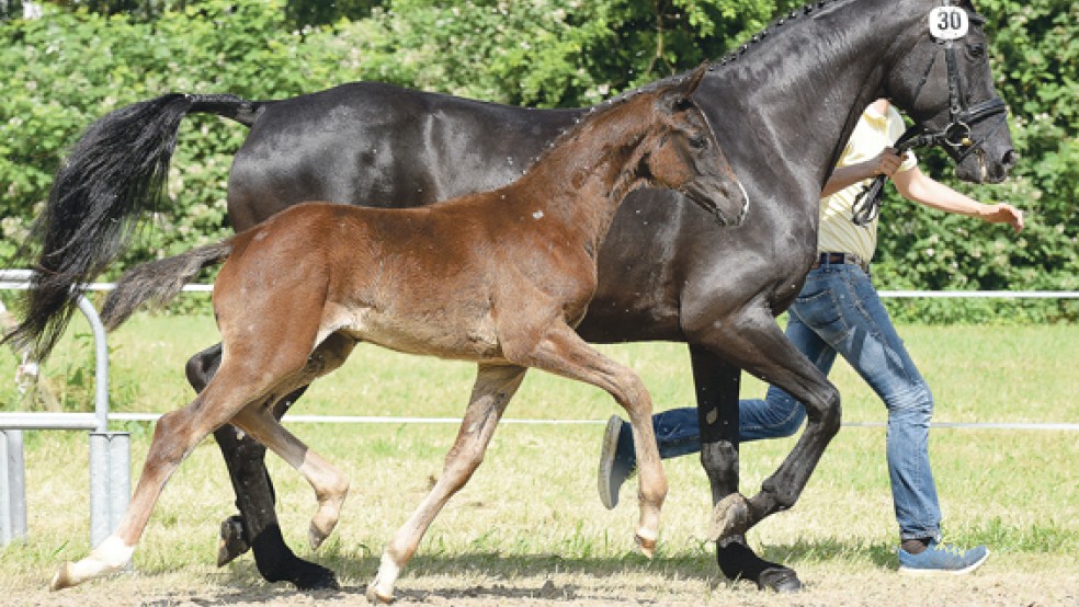
<svg viewBox="0 0 1079 607">
<path fill-rule="evenodd" d="M 631 196 L 600 252 L 600 285 L 579 332 L 590 342 L 689 344 L 702 427 L 701 459 L 718 505 L 717 560 L 728 577 L 797 588 L 787 568 L 760 560 L 743 534 L 790 508 L 839 430 L 834 387 L 784 337 L 775 317 L 798 293 L 815 253 L 817 199 L 862 108 L 889 98 L 956 160 L 956 174 L 999 182 L 1015 160 L 992 85 L 983 20 L 930 35 L 939 0 L 817 2 L 775 21 L 713 66 L 695 94 L 750 199 L 737 228 L 719 228 L 666 191 Z M 945 3 L 946 4 L 946 3 Z M 509 107 L 377 83 L 295 99 L 166 95 L 95 123 L 58 173 L 36 231 L 47 272 L 35 280 L 20 336 L 46 354 L 70 316 L 68 289 L 112 259 L 134 218 L 160 192 L 179 122 L 208 112 L 251 127 L 229 177 L 228 210 L 245 229 L 305 199 L 429 204 L 503 185 L 581 111 Z M 673 209 L 673 210 L 672 210 Z M 200 389 L 212 347 L 189 364 Z M 740 369 L 806 405 L 794 449 L 752 499 L 738 494 Z M 279 415 L 298 393 L 277 402 Z M 264 449 L 230 427 L 215 436 L 241 524 L 227 523 L 225 559 L 250 545 L 260 572 L 299 587 L 333 586 L 329 570 L 281 538 Z M 242 534 L 238 537 L 237 534 Z"/>
</svg>

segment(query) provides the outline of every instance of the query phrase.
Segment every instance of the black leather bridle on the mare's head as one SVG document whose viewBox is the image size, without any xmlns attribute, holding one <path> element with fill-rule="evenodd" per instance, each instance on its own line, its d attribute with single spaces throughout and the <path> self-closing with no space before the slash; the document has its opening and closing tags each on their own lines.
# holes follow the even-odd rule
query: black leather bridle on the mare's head
<svg viewBox="0 0 1079 607">
<path fill-rule="evenodd" d="M 944 0 L 942 5 L 950 7 L 953 3 Z M 929 66 L 925 67 L 925 72 L 922 75 L 918 88 L 915 89 L 913 99 L 916 101 L 918 100 L 922 88 L 929 80 L 929 75 L 933 71 L 933 66 L 936 65 L 936 58 L 941 55 L 940 50 L 943 50 L 944 64 L 947 68 L 949 122 L 939 130 L 931 130 L 920 123 L 915 124 L 904 131 L 899 139 L 896 140 L 894 147 L 899 156 L 902 156 L 911 148 L 943 146 L 952 150 L 956 163 L 963 162 L 972 153 L 978 153 L 979 157 L 984 158 L 984 145 L 986 140 L 995 135 L 1001 126 L 1006 125 L 1007 119 L 1000 121 L 1000 124 L 979 139 L 972 137 L 973 130 L 970 125 L 978 124 L 998 114 L 1007 115 L 1008 107 L 1004 104 L 1004 100 L 993 96 L 974 106 L 967 106 L 963 82 L 959 80 L 958 64 L 955 58 L 955 43 L 956 39 L 962 39 L 962 36 L 946 38 L 932 36 L 932 38 L 938 45 L 939 50 L 933 53 Z M 859 192 L 853 205 L 854 216 L 852 220 L 854 225 L 864 226 L 877 218 L 877 215 L 881 213 L 881 192 L 885 181 L 887 181 L 885 175 L 877 175 L 868 187 Z"/>
</svg>

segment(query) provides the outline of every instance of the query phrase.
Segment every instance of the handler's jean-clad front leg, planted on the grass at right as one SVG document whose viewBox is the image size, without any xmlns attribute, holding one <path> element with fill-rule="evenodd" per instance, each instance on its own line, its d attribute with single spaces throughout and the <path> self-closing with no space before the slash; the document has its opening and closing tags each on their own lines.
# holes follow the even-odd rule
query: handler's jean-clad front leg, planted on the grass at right
<svg viewBox="0 0 1079 607">
<path fill-rule="evenodd" d="M 888 409 L 888 472 L 900 537 L 938 536 L 941 513 L 929 462 L 933 397 L 870 277 L 852 265 L 816 270 L 791 313 L 847 358 Z"/>
</svg>

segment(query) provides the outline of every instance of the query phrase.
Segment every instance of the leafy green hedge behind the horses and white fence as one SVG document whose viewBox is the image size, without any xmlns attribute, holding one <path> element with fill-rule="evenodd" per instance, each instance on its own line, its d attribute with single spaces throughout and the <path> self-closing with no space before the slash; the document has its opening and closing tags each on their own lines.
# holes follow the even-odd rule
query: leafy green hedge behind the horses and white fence
<svg viewBox="0 0 1079 607">
<path fill-rule="evenodd" d="M 106 4 L 106 3 L 102 3 Z M 52 174 L 94 119 L 170 91 L 284 98 L 352 80 L 383 80 L 538 106 L 594 103 L 689 69 L 746 41 L 800 2 L 761 0 L 434 0 L 367 2 L 370 15 L 296 30 L 282 0 L 159 2 L 156 18 L 49 5 L 44 19 L 0 22 L 0 255 L 25 236 Z M 877 284 L 885 289 L 1077 289 L 1076 68 L 1079 11 L 1070 0 L 977 2 L 993 36 L 999 88 L 1022 161 L 999 186 L 957 185 L 1027 211 L 1019 237 L 906 203 L 889 192 Z M 229 232 L 225 183 L 247 130 L 217 118 L 183 123 L 169 193 L 127 265 Z M 923 168 L 951 179 L 949 161 Z M 117 268 L 118 271 L 118 268 Z M 895 301 L 921 321 L 1075 321 L 1074 302 Z"/>
</svg>

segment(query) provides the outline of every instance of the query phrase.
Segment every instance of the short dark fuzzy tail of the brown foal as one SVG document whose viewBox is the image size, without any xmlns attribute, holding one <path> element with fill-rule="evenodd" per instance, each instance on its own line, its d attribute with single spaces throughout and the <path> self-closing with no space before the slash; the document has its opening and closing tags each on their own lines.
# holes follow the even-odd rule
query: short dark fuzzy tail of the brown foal
<svg viewBox="0 0 1079 607">
<path fill-rule="evenodd" d="M 200 270 L 220 263 L 231 252 L 232 240 L 228 239 L 128 270 L 120 277 L 116 288 L 109 294 L 101 308 L 102 323 L 112 331 L 147 301 L 168 304 Z"/>
</svg>

